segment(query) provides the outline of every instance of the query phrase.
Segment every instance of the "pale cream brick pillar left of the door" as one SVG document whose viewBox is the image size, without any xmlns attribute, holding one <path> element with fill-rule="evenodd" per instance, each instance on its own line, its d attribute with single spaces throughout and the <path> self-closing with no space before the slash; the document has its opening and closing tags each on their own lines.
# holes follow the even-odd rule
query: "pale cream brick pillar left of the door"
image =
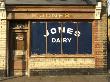
<svg viewBox="0 0 110 82">
<path fill-rule="evenodd" d="M 6 75 L 6 10 L 5 4 L 0 2 L 0 76 Z"/>
</svg>

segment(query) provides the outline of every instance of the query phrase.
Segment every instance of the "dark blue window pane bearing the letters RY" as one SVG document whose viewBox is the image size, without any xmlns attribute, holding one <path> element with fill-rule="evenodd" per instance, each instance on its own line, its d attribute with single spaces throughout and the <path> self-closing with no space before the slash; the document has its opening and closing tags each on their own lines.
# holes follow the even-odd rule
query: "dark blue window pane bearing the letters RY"
<svg viewBox="0 0 110 82">
<path fill-rule="evenodd" d="M 65 22 L 63 23 L 63 30 L 65 32 L 62 33 L 63 35 L 63 54 L 75 54 L 76 53 L 76 36 L 74 36 L 74 32 L 76 31 L 76 23 L 73 22 Z"/>
</svg>

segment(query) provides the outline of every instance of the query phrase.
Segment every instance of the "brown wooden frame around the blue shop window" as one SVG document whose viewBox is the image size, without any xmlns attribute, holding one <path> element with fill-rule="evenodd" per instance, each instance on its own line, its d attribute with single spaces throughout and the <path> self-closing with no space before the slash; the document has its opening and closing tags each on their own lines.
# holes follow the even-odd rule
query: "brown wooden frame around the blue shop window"
<svg viewBox="0 0 110 82">
<path fill-rule="evenodd" d="M 53 20 L 53 21 L 45 21 L 45 20 L 43 20 L 43 21 L 36 21 L 35 20 L 35 22 L 56 22 L 56 20 Z M 31 21 L 31 23 L 32 23 L 33 21 Z M 67 21 L 67 20 L 64 20 L 64 21 L 60 21 L 60 20 L 57 20 L 57 22 L 74 22 L 74 20 L 72 20 L 72 21 Z M 91 22 L 91 24 L 92 24 L 92 28 L 91 28 L 91 30 L 93 30 L 93 20 L 79 20 L 79 21 L 75 21 L 75 22 Z M 47 26 L 47 25 L 46 25 Z M 30 25 L 30 27 L 31 27 L 31 25 Z M 31 30 L 31 29 L 30 29 Z M 93 34 L 93 31 L 92 31 L 92 34 Z M 31 33 L 30 33 L 30 36 L 31 36 Z M 32 54 L 30 54 L 31 55 L 31 57 L 94 57 L 94 54 L 93 54 L 93 51 L 94 51 L 94 48 L 93 48 L 93 35 L 92 35 L 92 53 L 91 54 L 63 54 L 63 53 L 61 53 L 61 54 L 49 54 L 49 53 L 47 53 L 47 49 L 46 49 L 46 54 L 42 54 L 42 55 L 38 55 L 38 54 L 36 54 L 36 55 L 32 55 Z M 30 44 L 31 44 L 31 42 L 30 42 Z M 31 48 L 30 48 L 31 49 Z M 30 50 L 30 52 L 31 52 L 31 50 Z"/>
</svg>

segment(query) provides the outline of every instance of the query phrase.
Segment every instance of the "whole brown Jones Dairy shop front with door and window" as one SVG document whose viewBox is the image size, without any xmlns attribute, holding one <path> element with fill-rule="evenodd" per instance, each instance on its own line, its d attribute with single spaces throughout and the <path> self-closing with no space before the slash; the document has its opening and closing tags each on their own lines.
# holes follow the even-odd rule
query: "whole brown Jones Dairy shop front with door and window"
<svg viewBox="0 0 110 82">
<path fill-rule="evenodd" d="M 10 0 L 6 1 L 6 11 L 9 75 L 100 68 L 97 56 L 104 57 L 99 48 L 103 44 L 98 44 L 101 39 L 96 41 L 96 33 L 101 2 L 43 0 L 20 4 Z"/>
</svg>

